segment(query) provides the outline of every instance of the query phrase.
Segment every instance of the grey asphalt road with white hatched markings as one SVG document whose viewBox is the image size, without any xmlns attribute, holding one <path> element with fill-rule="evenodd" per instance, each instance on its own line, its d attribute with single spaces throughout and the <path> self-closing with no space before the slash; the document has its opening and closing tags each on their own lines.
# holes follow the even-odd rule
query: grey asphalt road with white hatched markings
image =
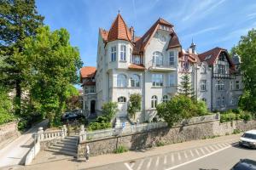
<svg viewBox="0 0 256 170">
<path fill-rule="evenodd" d="M 187 150 L 113 163 L 90 168 L 90 170 L 227 170 L 243 158 L 256 160 L 256 150 L 241 148 L 236 140 L 228 143 L 206 144 L 201 147 L 195 146 Z"/>
</svg>

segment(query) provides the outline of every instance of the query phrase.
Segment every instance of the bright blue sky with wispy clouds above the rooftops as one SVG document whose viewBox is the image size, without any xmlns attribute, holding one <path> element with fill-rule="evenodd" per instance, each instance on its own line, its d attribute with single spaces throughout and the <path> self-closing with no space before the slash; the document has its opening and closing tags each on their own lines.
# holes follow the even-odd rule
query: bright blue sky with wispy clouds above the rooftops
<svg viewBox="0 0 256 170">
<path fill-rule="evenodd" d="M 109 29 L 118 10 L 137 36 L 161 18 L 174 25 L 183 48 L 192 38 L 201 53 L 230 49 L 256 27 L 255 0 L 37 0 L 38 13 L 52 30 L 64 27 L 79 47 L 84 65 L 96 65 L 99 27 Z"/>
</svg>

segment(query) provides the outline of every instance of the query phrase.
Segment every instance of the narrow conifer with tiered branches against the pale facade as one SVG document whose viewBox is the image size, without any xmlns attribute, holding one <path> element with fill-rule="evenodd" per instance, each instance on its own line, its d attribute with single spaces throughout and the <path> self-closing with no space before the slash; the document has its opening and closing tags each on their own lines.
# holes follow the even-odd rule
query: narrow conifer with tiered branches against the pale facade
<svg viewBox="0 0 256 170">
<path fill-rule="evenodd" d="M 195 93 L 194 93 L 194 89 L 191 86 L 189 73 L 185 73 L 185 75 L 181 77 L 181 82 L 177 88 L 177 94 L 183 94 L 190 98 L 194 98 Z"/>
</svg>

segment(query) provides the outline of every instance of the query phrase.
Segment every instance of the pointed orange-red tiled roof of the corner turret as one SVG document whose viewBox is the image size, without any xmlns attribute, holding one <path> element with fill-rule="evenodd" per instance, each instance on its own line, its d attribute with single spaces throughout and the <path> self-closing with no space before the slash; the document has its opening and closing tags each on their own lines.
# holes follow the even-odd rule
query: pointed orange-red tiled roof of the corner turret
<svg viewBox="0 0 256 170">
<path fill-rule="evenodd" d="M 108 42 L 114 40 L 126 40 L 131 42 L 131 32 L 120 14 L 117 15 L 108 31 Z"/>
</svg>

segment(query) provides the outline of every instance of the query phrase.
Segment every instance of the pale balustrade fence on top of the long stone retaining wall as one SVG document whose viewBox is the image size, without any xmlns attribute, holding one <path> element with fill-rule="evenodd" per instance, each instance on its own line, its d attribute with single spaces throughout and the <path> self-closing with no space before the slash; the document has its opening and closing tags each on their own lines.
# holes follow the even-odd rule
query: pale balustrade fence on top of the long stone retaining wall
<svg viewBox="0 0 256 170">
<path fill-rule="evenodd" d="M 175 124 L 175 126 L 189 125 L 189 124 L 195 124 L 195 123 L 201 123 L 201 122 L 211 122 L 216 120 L 219 120 L 218 113 L 214 115 L 208 115 L 208 116 L 192 117 L 191 119 L 186 119 L 186 120 L 183 120 L 182 122 Z M 150 122 L 150 123 L 127 126 L 124 129 L 108 128 L 104 130 L 96 130 L 93 132 L 85 132 L 83 129 L 83 131 L 80 132 L 79 142 L 83 142 L 85 140 L 91 140 L 91 139 L 104 139 L 112 136 L 118 136 L 120 134 L 123 135 L 128 133 L 147 132 L 151 129 L 161 128 L 161 127 L 167 127 L 167 123 L 166 122 Z"/>
</svg>

